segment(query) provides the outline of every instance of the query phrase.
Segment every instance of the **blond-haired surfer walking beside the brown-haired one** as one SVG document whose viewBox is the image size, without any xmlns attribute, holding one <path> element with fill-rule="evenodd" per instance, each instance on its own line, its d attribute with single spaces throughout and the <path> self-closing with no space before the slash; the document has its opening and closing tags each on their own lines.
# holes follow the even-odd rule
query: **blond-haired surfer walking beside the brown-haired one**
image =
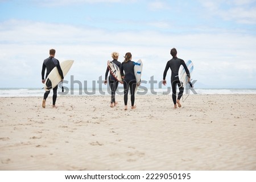
<svg viewBox="0 0 256 182">
<path fill-rule="evenodd" d="M 119 53 L 113 52 L 113 53 L 111 54 L 111 56 L 112 56 L 112 58 L 113 58 L 113 61 L 112 61 L 112 62 L 120 68 L 121 62 L 117 61 L 117 60 L 118 60 L 118 57 L 119 57 Z M 107 84 L 107 83 L 108 83 L 108 81 L 107 81 L 108 74 L 109 74 L 109 68 L 107 67 L 106 73 L 105 73 L 105 81 L 104 81 L 104 84 Z M 115 91 L 117 90 L 117 87 L 118 87 L 118 81 L 117 81 L 117 79 L 115 79 L 115 78 L 113 77 L 112 74 L 110 74 L 110 76 L 109 76 L 109 86 L 110 86 L 110 89 L 111 89 L 110 107 L 114 107 L 115 105 L 117 105 L 117 101 L 115 101 Z"/>
</svg>

